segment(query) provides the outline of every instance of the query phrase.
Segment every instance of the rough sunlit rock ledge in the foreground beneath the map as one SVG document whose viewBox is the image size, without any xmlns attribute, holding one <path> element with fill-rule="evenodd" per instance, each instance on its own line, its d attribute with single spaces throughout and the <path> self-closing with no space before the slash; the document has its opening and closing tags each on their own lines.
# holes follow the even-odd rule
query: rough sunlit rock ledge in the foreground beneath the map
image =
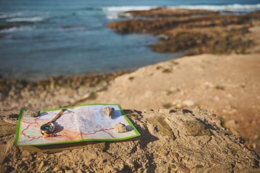
<svg viewBox="0 0 260 173">
<path fill-rule="evenodd" d="M 0 172 L 259 173 L 260 158 L 206 110 L 124 110 L 141 133 L 121 142 L 14 147 L 18 112 L 0 112 Z"/>
</svg>

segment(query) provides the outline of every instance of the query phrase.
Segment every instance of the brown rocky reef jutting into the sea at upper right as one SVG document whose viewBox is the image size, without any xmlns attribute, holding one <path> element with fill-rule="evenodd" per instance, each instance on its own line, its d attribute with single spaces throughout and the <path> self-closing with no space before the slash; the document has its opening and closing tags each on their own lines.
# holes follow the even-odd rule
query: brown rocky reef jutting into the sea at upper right
<svg viewBox="0 0 260 173">
<path fill-rule="evenodd" d="M 260 20 L 260 11 L 234 15 L 162 7 L 126 13 L 137 18 L 112 22 L 107 26 L 120 34 L 158 36 L 159 43 L 148 45 L 154 51 L 189 50 L 190 54 L 248 53 L 248 48 L 255 44 L 247 36 L 249 28 Z"/>
</svg>

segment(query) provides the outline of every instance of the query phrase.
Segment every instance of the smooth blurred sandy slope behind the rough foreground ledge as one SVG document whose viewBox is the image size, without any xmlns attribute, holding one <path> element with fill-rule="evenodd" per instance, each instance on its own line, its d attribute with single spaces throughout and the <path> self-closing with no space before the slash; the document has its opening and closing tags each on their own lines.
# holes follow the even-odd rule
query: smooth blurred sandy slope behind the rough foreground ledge
<svg viewBox="0 0 260 173">
<path fill-rule="evenodd" d="M 120 103 L 139 110 L 211 110 L 260 153 L 259 74 L 260 54 L 188 56 L 120 76 L 95 99 L 83 103 Z"/>
</svg>

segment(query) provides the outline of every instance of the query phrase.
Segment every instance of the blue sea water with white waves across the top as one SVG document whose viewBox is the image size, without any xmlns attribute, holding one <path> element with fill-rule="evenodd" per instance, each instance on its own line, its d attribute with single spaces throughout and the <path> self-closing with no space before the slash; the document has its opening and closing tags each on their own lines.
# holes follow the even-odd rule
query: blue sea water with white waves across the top
<svg viewBox="0 0 260 173">
<path fill-rule="evenodd" d="M 107 23 L 118 13 L 159 6 L 248 12 L 259 0 L 1 0 L 0 75 L 42 79 L 50 76 L 109 73 L 179 57 L 146 45 L 157 38 L 119 35 Z"/>
</svg>

